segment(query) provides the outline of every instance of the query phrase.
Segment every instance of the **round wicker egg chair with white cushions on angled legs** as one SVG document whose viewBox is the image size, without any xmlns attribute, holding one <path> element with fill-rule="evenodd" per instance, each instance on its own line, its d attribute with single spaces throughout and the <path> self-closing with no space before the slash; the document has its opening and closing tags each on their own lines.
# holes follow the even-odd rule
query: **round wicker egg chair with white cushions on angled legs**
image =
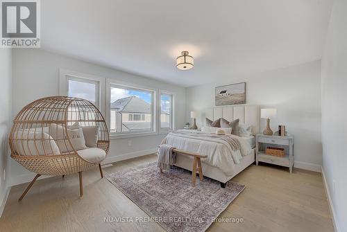
<svg viewBox="0 0 347 232">
<path fill-rule="evenodd" d="M 105 120 L 92 102 L 67 96 L 41 98 L 19 111 L 13 123 L 9 136 L 11 157 L 37 173 L 19 201 L 41 175 L 64 177 L 78 172 L 81 196 L 83 171 L 99 166 L 103 178 L 100 163 L 108 154 L 110 139 Z M 76 130 L 71 129 L 76 126 Z M 81 144 L 82 134 L 85 144 Z M 88 147 L 86 136 L 94 142 Z M 81 148 L 76 144 L 85 149 L 78 150 Z"/>
</svg>

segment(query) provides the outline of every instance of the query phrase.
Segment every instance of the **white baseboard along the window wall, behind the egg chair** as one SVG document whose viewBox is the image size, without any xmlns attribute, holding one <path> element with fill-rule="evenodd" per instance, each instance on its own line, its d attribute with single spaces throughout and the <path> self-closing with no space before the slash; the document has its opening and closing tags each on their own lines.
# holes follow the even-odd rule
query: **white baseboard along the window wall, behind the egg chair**
<svg viewBox="0 0 347 232">
<path fill-rule="evenodd" d="M 114 163 L 117 161 L 132 159 L 135 157 L 142 157 L 146 154 L 153 154 L 153 153 L 157 152 L 157 150 L 158 150 L 158 148 L 153 148 L 150 150 L 142 150 L 139 152 L 121 154 L 119 156 L 108 156 L 101 164 Z M 35 173 L 24 174 L 24 175 L 12 177 L 10 180 L 10 186 L 16 186 L 18 184 L 28 183 L 28 182 L 32 181 L 34 179 L 34 177 L 35 177 Z M 49 177 L 52 177 L 52 176 L 41 176 L 38 179 L 45 179 L 45 178 L 49 178 Z"/>
</svg>

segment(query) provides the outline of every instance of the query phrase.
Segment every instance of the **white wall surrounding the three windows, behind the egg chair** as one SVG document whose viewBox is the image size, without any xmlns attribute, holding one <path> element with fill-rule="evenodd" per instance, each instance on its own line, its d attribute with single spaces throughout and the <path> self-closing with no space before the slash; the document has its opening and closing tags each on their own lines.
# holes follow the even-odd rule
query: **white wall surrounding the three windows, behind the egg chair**
<svg viewBox="0 0 347 232">
<path fill-rule="evenodd" d="M 59 93 L 59 68 L 100 76 L 114 78 L 122 82 L 143 84 L 146 87 L 164 89 L 176 93 L 176 109 L 185 109 L 185 88 L 166 82 L 132 75 L 104 66 L 98 66 L 65 57 L 56 53 L 49 53 L 41 49 L 17 49 L 13 52 L 13 114 L 22 109 L 29 102 L 44 96 L 54 96 Z M 185 113 L 176 114 L 176 127 L 183 127 Z M 132 139 L 115 139 L 111 141 L 107 159 L 115 161 L 126 157 L 137 156 L 146 152 L 153 152 L 160 144 L 165 134 L 141 136 Z M 129 145 L 128 141 L 131 141 Z M 115 158 L 116 157 L 116 158 Z M 16 161 L 11 162 L 12 184 L 29 181 L 33 175 Z"/>
</svg>

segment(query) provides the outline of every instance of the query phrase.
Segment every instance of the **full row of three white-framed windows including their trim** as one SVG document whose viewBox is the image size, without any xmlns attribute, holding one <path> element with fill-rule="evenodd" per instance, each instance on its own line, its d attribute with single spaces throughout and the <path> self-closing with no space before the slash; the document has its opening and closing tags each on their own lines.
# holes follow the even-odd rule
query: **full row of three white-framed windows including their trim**
<svg viewBox="0 0 347 232">
<path fill-rule="evenodd" d="M 174 129 L 174 93 L 65 69 L 59 69 L 59 76 L 60 95 L 93 102 L 108 122 L 111 138 Z M 71 114 L 72 120 L 77 116 Z"/>
</svg>

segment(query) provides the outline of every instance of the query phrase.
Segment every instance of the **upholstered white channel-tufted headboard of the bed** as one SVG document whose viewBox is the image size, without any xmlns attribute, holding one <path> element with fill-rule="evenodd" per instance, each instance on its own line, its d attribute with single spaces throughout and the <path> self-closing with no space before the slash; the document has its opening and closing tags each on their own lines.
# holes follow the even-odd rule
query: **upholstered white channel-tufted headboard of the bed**
<svg viewBox="0 0 347 232">
<path fill-rule="evenodd" d="M 260 130 L 260 110 L 257 105 L 213 107 L 205 109 L 205 118 L 213 118 L 213 120 L 226 118 L 228 121 L 239 118 L 240 123 L 252 126 L 253 134 L 257 134 Z"/>
</svg>

